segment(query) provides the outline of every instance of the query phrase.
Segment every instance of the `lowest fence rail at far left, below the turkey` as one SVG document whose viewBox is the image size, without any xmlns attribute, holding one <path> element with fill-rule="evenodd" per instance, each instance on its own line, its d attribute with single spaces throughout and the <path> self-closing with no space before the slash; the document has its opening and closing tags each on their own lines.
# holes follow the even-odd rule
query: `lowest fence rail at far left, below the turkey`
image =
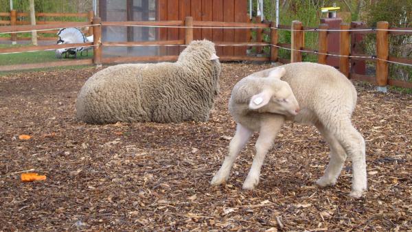
<svg viewBox="0 0 412 232">
<path fill-rule="evenodd" d="M 43 62 L 34 64 L 24 64 L 24 65 L 0 65 L 0 71 L 15 71 L 15 70 L 26 70 L 26 69 L 43 69 L 45 67 L 60 67 L 60 66 L 74 66 L 74 65 L 92 65 L 93 59 L 82 59 L 82 60 L 64 60 L 56 62 Z"/>
</svg>

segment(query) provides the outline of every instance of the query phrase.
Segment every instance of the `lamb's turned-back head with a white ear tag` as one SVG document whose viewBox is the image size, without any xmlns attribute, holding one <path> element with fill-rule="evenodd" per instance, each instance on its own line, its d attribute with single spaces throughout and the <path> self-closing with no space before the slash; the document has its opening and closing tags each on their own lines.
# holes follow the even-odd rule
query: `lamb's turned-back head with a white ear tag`
<svg viewBox="0 0 412 232">
<path fill-rule="evenodd" d="M 286 70 L 282 67 L 271 71 L 262 79 L 262 91 L 253 95 L 249 102 L 251 110 L 286 116 L 295 116 L 299 113 L 299 104 L 292 89 L 287 82 L 280 80 L 285 73 Z"/>
</svg>

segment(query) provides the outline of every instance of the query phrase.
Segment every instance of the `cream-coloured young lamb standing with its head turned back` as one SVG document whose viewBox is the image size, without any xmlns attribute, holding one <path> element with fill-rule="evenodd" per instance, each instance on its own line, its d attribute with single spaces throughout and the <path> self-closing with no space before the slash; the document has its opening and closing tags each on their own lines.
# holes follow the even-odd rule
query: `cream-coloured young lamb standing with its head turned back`
<svg viewBox="0 0 412 232">
<path fill-rule="evenodd" d="M 284 121 L 290 120 L 316 126 L 330 146 L 330 161 L 317 185 L 334 185 L 349 155 L 353 170 L 350 196 L 361 197 L 367 190 L 365 141 L 352 126 L 355 106 L 353 84 L 328 65 L 297 62 L 243 78 L 233 87 L 229 100 L 229 111 L 237 122 L 236 134 L 211 184 L 227 181 L 236 156 L 253 131 L 258 131 L 256 154 L 243 188 L 258 185 L 264 156 Z"/>
</svg>

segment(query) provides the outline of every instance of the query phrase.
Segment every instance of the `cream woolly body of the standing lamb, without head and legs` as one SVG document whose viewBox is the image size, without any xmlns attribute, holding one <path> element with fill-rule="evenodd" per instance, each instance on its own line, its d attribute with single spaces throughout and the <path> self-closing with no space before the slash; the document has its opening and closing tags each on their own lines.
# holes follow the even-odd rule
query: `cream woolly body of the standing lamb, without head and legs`
<svg viewBox="0 0 412 232">
<path fill-rule="evenodd" d="M 263 80 L 262 83 L 258 82 L 256 78 L 264 79 L 273 69 L 280 67 L 286 69 L 286 74 L 281 80 L 288 82 L 301 106 L 299 115 L 290 120 L 312 125 L 321 122 L 329 127 L 330 124 L 338 124 L 341 118 L 350 119 L 357 98 L 352 82 L 334 67 L 311 62 L 296 62 L 259 71 L 240 80 L 237 85 L 241 89 L 236 89 L 236 86 L 233 88 L 229 102 L 229 111 L 237 122 L 251 130 L 260 128 L 261 117 L 265 115 L 250 113 L 245 108 L 251 96 L 259 93 L 262 84 L 266 84 Z M 247 112 L 247 115 L 244 112 Z"/>
</svg>

